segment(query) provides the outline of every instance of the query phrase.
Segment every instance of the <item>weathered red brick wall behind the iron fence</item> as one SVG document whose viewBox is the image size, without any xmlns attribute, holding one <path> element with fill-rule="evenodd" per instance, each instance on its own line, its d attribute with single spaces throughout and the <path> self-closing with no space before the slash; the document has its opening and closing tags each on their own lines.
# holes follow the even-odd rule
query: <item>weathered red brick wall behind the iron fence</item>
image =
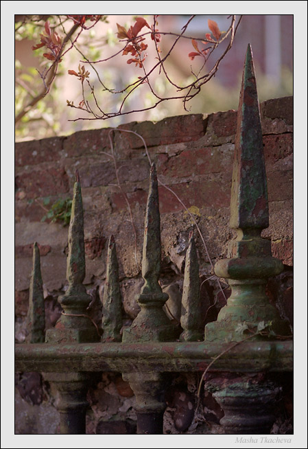
<svg viewBox="0 0 308 449">
<path fill-rule="evenodd" d="M 270 205 L 270 227 L 263 231 L 263 236 L 272 241 L 273 255 L 285 264 L 285 271 L 279 277 L 270 279 L 268 295 L 281 314 L 291 322 L 292 100 L 292 97 L 284 97 L 261 104 Z M 110 132 L 110 128 L 103 128 L 82 131 L 69 137 L 16 143 L 17 341 L 22 342 L 25 335 L 34 241 L 40 245 L 47 327 L 53 326 L 60 314 L 57 298 L 67 286 L 65 253 L 68 228 L 59 223 L 49 223 L 48 220 L 42 222 L 41 219 L 46 214 L 45 209 L 56 200 L 71 197 L 76 168 L 80 173 L 84 202 L 84 284 L 93 296 L 93 318 L 97 323 L 101 319 L 99 297 L 102 297 L 104 289 L 106 241 L 110 234 L 115 235 L 117 243 L 123 324 L 129 325 L 137 315 L 139 306 L 134 301 L 134 295 L 142 284 L 143 220 L 150 170 L 147 154 L 156 163 L 158 179 L 161 181 L 161 281 L 169 292 L 169 309 L 179 318 L 183 262 L 188 234 L 193 228 L 191 216 L 198 222 L 213 263 L 226 256 L 227 243 L 233 235 L 228 221 L 236 119 L 236 111 L 207 116 L 180 115 L 156 124 L 132 122 L 119 126 L 131 133 L 120 132 L 119 128 L 114 132 Z M 143 140 L 135 133 L 143 137 L 147 152 Z M 113 158 L 110 156 L 110 139 Z M 117 185 L 115 164 L 121 189 Z M 123 192 L 130 203 L 134 226 Z M 47 198 L 49 206 L 45 205 Z M 201 279 L 206 279 L 213 274 L 211 264 L 198 233 L 196 240 Z M 217 296 L 215 279 L 206 281 L 202 288 L 204 310 L 216 303 L 214 313 L 206 318 L 211 321 L 224 305 L 224 298 Z M 219 301 L 216 301 L 217 298 Z M 17 385 L 20 382 L 19 379 Z M 170 426 L 173 429 L 171 433 L 176 433 L 174 424 Z"/>
</svg>

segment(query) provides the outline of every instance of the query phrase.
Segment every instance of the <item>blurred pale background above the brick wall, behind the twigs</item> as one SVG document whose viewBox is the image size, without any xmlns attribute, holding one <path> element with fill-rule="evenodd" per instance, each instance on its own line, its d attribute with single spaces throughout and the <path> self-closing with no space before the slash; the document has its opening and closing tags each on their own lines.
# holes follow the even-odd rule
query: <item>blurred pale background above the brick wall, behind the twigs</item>
<svg viewBox="0 0 308 449">
<path fill-rule="evenodd" d="M 152 23 L 152 16 L 144 17 L 149 24 Z M 42 72 L 46 65 L 50 65 L 50 61 L 42 56 L 46 51 L 44 48 L 32 51 L 32 45 L 40 42 L 39 34 L 47 18 L 52 24 L 53 16 L 43 16 L 42 21 L 37 22 L 40 26 L 34 26 L 31 23 L 23 23 L 24 16 L 15 15 L 16 114 L 22 111 L 31 97 L 37 95 L 43 87 L 38 71 Z M 221 31 L 228 30 L 230 25 L 228 16 L 198 15 L 191 21 L 186 35 L 204 38 L 205 34 L 210 32 L 208 19 L 217 22 Z M 188 15 L 161 15 L 158 16 L 158 30 L 180 33 L 188 20 Z M 78 39 L 80 51 L 91 60 L 108 58 L 119 51 L 123 43 L 119 43 L 117 38 L 117 23 L 128 30 L 128 27 L 134 24 L 134 16 L 107 16 L 106 20 L 97 23 L 92 30 L 82 33 Z M 69 24 L 66 23 L 65 27 L 69 30 Z M 59 34 L 61 34 L 60 30 Z M 170 49 L 173 42 L 174 37 L 162 36 L 159 45 L 163 55 Z M 153 41 L 149 39 L 148 43 L 146 64 L 150 67 L 154 64 L 156 55 L 154 47 L 151 47 L 151 44 L 154 45 Z M 237 109 L 241 73 L 248 43 L 252 45 L 259 101 L 293 94 L 293 15 L 244 15 L 237 29 L 232 49 L 222 60 L 215 77 L 205 84 L 201 92 L 189 102 L 189 113 L 213 113 Z M 222 43 L 202 70 L 209 71 L 225 47 L 225 43 Z M 191 72 L 198 72 L 202 66 L 202 58 L 196 57 L 190 60 L 188 54 L 191 51 L 194 51 L 191 39 L 183 38 L 174 47 L 166 63 L 168 75 L 181 85 L 192 80 Z M 121 56 L 120 53 L 108 62 L 95 65 L 104 83 L 120 90 L 129 82 L 136 80 L 138 76 L 142 76 L 142 69 L 135 67 L 134 64 L 127 64 L 126 61 L 130 57 Z M 49 95 L 40 100 L 16 124 L 16 141 L 70 135 L 78 130 L 115 127 L 135 120 L 138 122 L 158 121 L 172 115 L 187 114 L 183 109 L 182 100 L 168 100 L 150 111 L 132 113 L 104 121 L 84 119 L 70 121 L 88 117 L 88 115 L 82 115 L 84 114 L 82 111 L 67 107 L 67 100 L 73 101 L 74 104 L 82 100 L 80 81 L 75 76 L 67 74 L 68 69 L 78 71 L 78 65 L 82 60 L 82 55 L 75 49 L 64 56 Z M 95 72 L 88 65 L 85 67 L 90 71 L 89 80 L 95 87 L 99 102 L 104 104 L 104 109 L 107 111 L 115 111 L 121 97 L 117 98 L 116 95 L 104 93 Z M 171 86 L 158 71 L 153 73 L 152 82 L 161 95 L 172 95 Z M 91 100 L 90 94 L 88 99 Z M 154 104 L 154 97 L 150 89 L 144 86 L 129 97 L 126 110 L 150 107 L 152 104 Z"/>
</svg>

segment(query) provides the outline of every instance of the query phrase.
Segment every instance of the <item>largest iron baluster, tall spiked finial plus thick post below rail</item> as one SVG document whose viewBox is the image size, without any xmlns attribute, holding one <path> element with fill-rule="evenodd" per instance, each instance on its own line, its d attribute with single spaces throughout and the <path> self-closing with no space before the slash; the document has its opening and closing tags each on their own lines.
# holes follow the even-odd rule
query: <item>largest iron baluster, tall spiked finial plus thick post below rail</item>
<svg viewBox="0 0 308 449">
<path fill-rule="evenodd" d="M 246 54 L 237 117 L 235 161 L 233 165 L 230 227 L 237 238 L 230 242 L 228 259 L 215 265 L 215 274 L 225 277 L 232 294 L 218 314 L 217 321 L 205 327 L 206 341 L 241 341 L 249 328 L 254 340 L 268 338 L 257 334 L 258 325 L 272 323 L 279 334 L 289 333 L 278 311 L 265 294 L 268 277 L 283 270 L 272 257 L 270 241 L 261 238 L 268 227 L 268 193 L 259 102 L 250 45 Z M 243 327 L 244 326 L 244 327 Z M 248 331 L 249 332 L 249 331 Z M 221 419 L 226 433 L 269 433 L 274 415 L 272 406 L 279 391 L 277 385 L 261 373 L 220 376 L 206 383 L 224 409 Z"/>
</svg>

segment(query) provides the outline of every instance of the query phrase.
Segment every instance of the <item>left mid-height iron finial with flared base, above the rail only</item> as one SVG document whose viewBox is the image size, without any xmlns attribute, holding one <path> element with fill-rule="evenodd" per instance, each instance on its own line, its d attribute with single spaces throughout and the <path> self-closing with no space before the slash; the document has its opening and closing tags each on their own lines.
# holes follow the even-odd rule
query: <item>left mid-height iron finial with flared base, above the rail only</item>
<svg viewBox="0 0 308 449">
<path fill-rule="evenodd" d="M 82 192 L 78 171 L 73 187 L 73 203 L 69 223 L 69 255 L 67 256 L 67 280 L 69 288 L 58 299 L 64 312 L 55 329 L 47 331 L 46 340 L 78 343 L 96 341 L 99 337 L 95 325 L 87 316 L 86 308 L 91 296 L 86 293 L 82 284 L 86 275 L 84 253 L 84 213 L 82 208 Z"/>
</svg>

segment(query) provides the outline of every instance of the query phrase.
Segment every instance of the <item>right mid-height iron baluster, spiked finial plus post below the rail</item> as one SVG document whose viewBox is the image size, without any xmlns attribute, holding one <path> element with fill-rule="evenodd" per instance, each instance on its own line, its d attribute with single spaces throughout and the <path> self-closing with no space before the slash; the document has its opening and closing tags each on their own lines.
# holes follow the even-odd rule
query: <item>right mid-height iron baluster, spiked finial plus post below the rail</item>
<svg viewBox="0 0 308 449">
<path fill-rule="evenodd" d="M 150 190 L 145 213 L 142 276 L 145 281 L 137 299 L 141 307 L 132 325 L 123 331 L 125 342 L 171 341 L 178 330 L 169 321 L 163 305 L 168 295 L 158 283 L 161 270 L 161 220 L 158 205 L 158 183 L 155 165 L 150 171 Z M 137 433 L 163 434 L 164 381 L 161 373 L 123 373 L 137 401 Z"/>
</svg>

